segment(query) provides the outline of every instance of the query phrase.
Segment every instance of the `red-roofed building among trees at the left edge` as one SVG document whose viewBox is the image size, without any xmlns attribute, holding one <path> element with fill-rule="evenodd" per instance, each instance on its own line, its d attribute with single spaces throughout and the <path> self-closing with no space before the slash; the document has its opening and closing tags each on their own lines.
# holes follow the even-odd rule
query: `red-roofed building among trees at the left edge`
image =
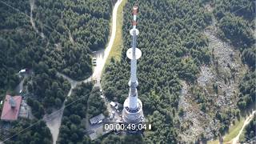
<svg viewBox="0 0 256 144">
<path fill-rule="evenodd" d="M 1 119 L 4 121 L 17 120 L 21 102 L 22 102 L 21 96 L 12 97 L 10 95 L 6 95 L 6 99 L 2 108 Z"/>
</svg>

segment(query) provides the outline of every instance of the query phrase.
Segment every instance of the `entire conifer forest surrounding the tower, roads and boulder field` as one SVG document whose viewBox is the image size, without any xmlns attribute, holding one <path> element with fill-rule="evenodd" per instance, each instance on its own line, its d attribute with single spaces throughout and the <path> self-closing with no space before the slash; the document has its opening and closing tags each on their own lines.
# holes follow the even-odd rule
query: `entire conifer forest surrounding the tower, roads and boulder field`
<svg viewBox="0 0 256 144">
<path fill-rule="evenodd" d="M 184 82 L 191 95 L 187 99 L 194 102 L 196 112 L 206 120 L 212 118 L 216 127 L 211 130 L 210 136 L 197 134 L 193 142 L 206 142 L 224 136 L 235 120 L 255 110 L 254 0 L 129 0 L 123 10 L 122 58 L 117 62 L 112 58 L 105 66 L 102 89 L 110 101 L 123 103 L 128 96 L 130 59 L 126 58 L 126 50 L 132 40 L 129 34 L 132 28 L 131 10 L 138 5 L 140 33 L 137 46 L 142 50 L 142 58 L 138 59 L 138 98 L 153 129 L 146 131 L 143 137 L 108 134 L 91 141 L 86 135 L 86 119 L 101 113 L 107 115 L 99 90 L 92 83 L 82 83 L 66 98 L 71 86 L 58 73 L 77 81 L 90 77 L 91 56 L 94 51 L 106 47 L 110 35 L 114 2 L 0 2 L 0 98 L 3 99 L 6 94 L 18 94 L 17 86 L 24 81 L 22 94 L 34 115 L 34 120 L 21 118 L 16 122 L 0 122 L 0 126 L 8 123 L 11 128 L 3 138 L 0 130 L 0 140 L 30 126 L 6 143 L 51 143 L 50 130 L 40 119 L 60 109 L 65 102 L 67 107 L 63 110 L 58 143 L 188 142 L 182 139 L 181 134 L 196 124 L 182 121 L 188 113 L 181 106 Z M 206 6 L 212 10 L 207 10 Z M 210 38 L 205 32 L 211 26 L 216 28 L 214 38 L 225 42 L 238 55 L 230 54 L 229 57 L 242 63 L 239 65 L 242 68 L 236 70 L 228 66 L 231 76 L 218 71 L 221 62 L 216 60 L 214 50 L 210 50 Z M 237 90 L 230 92 L 233 93 L 231 100 L 228 99 L 230 105 L 216 106 L 215 99 L 227 95 L 222 91 L 223 85 L 217 81 L 210 83 L 210 86 L 199 86 L 202 66 L 216 70 L 217 79 L 225 81 L 225 85 L 231 86 L 230 81 L 235 81 Z M 18 71 L 25 68 L 29 73 L 19 76 Z M 206 89 L 210 89 L 214 97 L 210 97 Z M 74 101 L 76 103 L 70 105 Z M 36 124 L 32 126 L 34 122 Z M 255 116 L 246 126 L 242 142 L 255 137 L 254 127 Z"/>
</svg>

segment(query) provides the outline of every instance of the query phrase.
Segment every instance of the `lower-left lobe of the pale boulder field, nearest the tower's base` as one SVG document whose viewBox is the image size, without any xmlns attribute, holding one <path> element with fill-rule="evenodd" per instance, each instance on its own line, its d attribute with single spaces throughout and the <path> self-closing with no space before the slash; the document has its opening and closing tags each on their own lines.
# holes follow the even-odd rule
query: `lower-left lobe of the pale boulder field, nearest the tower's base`
<svg viewBox="0 0 256 144">
<path fill-rule="evenodd" d="M 179 118 L 181 124 L 186 126 L 186 130 L 179 133 L 182 142 L 194 142 L 200 138 L 200 134 L 204 134 L 207 139 L 214 138 L 213 131 L 217 130 L 217 122 L 215 122 L 208 114 L 203 113 L 191 102 L 191 95 L 188 93 L 189 86 L 186 82 L 182 82 L 182 94 L 179 100 L 179 107 L 185 111 Z"/>
</svg>

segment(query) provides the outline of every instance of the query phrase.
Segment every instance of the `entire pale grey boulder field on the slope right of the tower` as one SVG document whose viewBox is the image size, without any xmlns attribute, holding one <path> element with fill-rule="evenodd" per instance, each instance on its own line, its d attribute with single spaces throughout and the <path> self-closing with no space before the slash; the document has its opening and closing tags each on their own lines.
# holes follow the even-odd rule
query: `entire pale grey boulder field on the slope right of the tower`
<svg viewBox="0 0 256 144">
<path fill-rule="evenodd" d="M 210 6 L 206 8 L 212 11 Z M 215 25 L 216 20 L 213 18 L 212 25 L 204 32 L 209 39 L 208 48 L 212 53 L 211 64 L 200 67 L 201 71 L 197 79 L 198 86 L 202 88 L 206 98 L 212 100 L 210 109 L 213 111 L 202 112 L 200 105 L 194 101 L 194 95 L 190 93 L 190 86 L 182 81 L 179 108 L 184 110 L 184 114 L 179 117 L 182 130 L 178 135 L 185 143 L 195 142 L 201 134 L 204 134 L 207 140 L 214 138 L 214 131 L 218 132 L 219 122 L 209 114 L 216 113 L 215 110 L 222 111 L 236 106 L 239 78 L 245 71 L 238 51 L 216 36 Z M 214 83 L 218 86 L 218 94 L 213 89 Z"/>
</svg>

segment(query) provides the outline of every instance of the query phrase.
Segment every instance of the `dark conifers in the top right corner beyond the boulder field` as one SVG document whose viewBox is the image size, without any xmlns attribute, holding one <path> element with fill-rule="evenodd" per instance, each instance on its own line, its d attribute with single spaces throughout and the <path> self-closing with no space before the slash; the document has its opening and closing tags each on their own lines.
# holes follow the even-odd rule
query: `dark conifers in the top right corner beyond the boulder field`
<svg viewBox="0 0 256 144">
<path fill-rule="evenodd" d="M 252 30 L 255 16 L 254 0 L 217 1 L 214 16 L 219 21 L 219 35 L 242 52 L 242 58 L 255 69 L 255 39 Z"/>
</svg>

